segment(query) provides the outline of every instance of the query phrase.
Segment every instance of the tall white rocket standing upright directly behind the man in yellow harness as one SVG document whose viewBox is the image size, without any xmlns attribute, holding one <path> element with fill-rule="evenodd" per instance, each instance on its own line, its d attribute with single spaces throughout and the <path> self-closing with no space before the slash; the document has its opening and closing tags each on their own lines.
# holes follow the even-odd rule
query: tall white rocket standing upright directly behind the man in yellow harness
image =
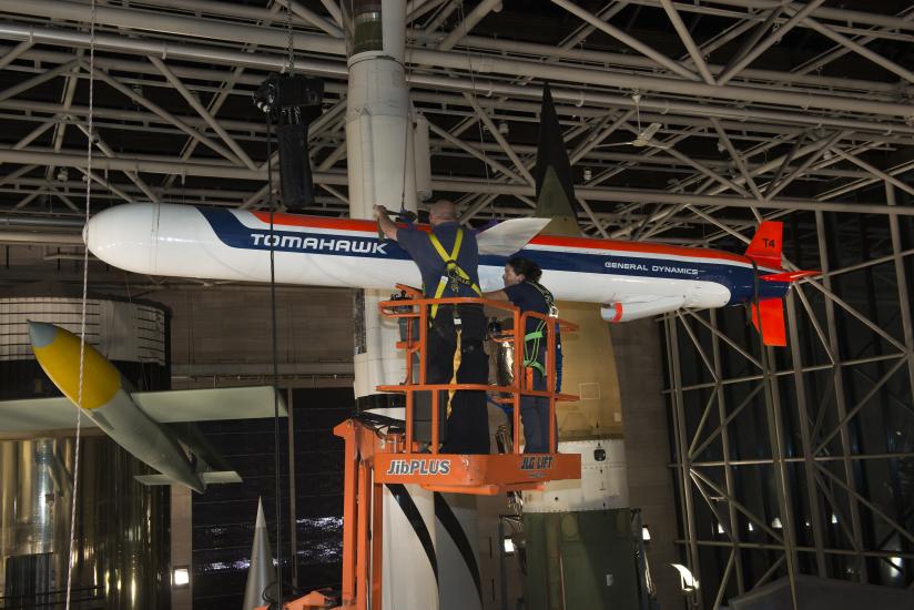
<svg viewBox="0 0 914 610">
<path fill-rule="evenodd" d="M 417 200 L 430 194 L 429 152 L 427 123 L 410 111 L 406 87 L 406 1 L 354 0 L 343 4 L 349 70 L 349 216 L 370 218 L 375 204 L 415 212 Z M 396 347 L 399 327 L 377 313 L 377 304 L 389 296 L 389 292 L 366 289 L 356 297 L 354 307 L 355 394 L 366 407 L 385 406 L 386 400 L 376 396 L 375 388 L 399 384 L 406 376 L 403 355 Z M 383 410 L 403 417 L 400 409 Z M 446 533 L 456 533 L 475 547 L 475 528 L 458 527 L 459 531 L 453 533 L 441 528 L 438 536 L 436 500 L 441 511 L 446 499 L 418 486 L 388 486 L 384 490 L 384 523 L 373 523 L 384 529 L 384 608 L 437 610 L 449 606 L 440 599 L 454 600 L 456 607 L 467 610 L 480 608 L 474 587 L 478 573 L 470 573 L 476 570 L 475 560 L 464 561 L 453 552 L 453 543 L 439 543 Z M 439 580 L 445 572 L 453 577 Z"/>
</svg>

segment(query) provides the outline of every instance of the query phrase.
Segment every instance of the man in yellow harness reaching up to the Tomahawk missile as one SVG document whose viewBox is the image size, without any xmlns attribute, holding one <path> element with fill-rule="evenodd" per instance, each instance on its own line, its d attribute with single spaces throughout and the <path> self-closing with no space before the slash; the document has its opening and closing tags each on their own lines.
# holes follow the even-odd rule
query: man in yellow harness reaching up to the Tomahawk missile
<svg viewBox="0 0 914 610">
<path fill-rule="evenodd" d="M 413 227 L 399 228 L 387 217 L 383 205 L 375 206 L 382 232 L 405 250 L 423 276 L 427 298 L 478 297 L 479 250 L 471 231 L 457 223 L 454 203 L 441 200 L 429 210 L 431 232 Z M 447 384 L 454 377 L 454 358 L 459 349 L 458 384 L 487 384 L 488 358 L 483 350 L 486 317 L 483 306 L 460 304 L 433 306 L 429 315 L 426 354 L 426 383 Z M 439 398 L 440 408 L 448 403 L 448 393 Z M 463 390 L 450 400 L 446 435 L 441 453 L 488 454 L 489 423 L 484 390 Z"/>
</svg>

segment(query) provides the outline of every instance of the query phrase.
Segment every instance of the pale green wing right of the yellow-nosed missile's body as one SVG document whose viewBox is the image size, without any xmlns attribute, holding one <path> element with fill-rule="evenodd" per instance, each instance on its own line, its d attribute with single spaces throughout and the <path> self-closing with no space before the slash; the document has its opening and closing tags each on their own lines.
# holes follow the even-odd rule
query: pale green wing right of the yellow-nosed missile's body
<svg viewBox="0 0 914 610">
<path fill-rule="evenodd" d="M 273 417 L 272 386 L 134 392 L 130 397 L 160 424 Z M 282 393 L 280 415 L 287 415 Z"/>
</svg>

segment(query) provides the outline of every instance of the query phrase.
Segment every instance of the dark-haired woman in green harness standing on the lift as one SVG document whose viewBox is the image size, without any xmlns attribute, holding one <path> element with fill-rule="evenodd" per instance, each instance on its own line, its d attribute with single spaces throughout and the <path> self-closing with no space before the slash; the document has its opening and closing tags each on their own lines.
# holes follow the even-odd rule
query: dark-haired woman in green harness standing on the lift
<svg viewBox="0 0 914 610">
<path fill-rule="evenodd" d="M 505 287 L 500 291 L 485 293 L 484 298 L 509 301 L 524 312 L 537 312 L 557 316 L 558 309 L 552 293 L 539 283 L 542 270 L 529 258 L 515 256 L 505 265 L 501 279 Z M 524 367 L 527 387 L 536 390 L 548 389 L 546 384 L 546 346 L 548 342 L 546 322 L 528 318 L 524 329 Z M 557 328 L 557 326 L 556 326 Z M 556 390 L 559 389 L 561 370 L 561 344 L 556 337 Z M 549 454 L 556 448 L 549 447 L 549 399 L 545 396 L 522 396 L 520 398 L 520 419 L 524 424 L 526 454 Z M 556 426 L 558 440 L 558 426 Z"/>
</svg>

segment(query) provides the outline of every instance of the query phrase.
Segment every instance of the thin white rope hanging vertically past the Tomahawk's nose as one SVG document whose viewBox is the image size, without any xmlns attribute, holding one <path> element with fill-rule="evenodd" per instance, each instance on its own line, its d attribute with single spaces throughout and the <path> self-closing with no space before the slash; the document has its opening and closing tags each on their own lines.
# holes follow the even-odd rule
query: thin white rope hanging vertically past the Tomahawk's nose
<svg viewBox="0 0 914 610">
<path fill-rule="evenodd" d="M 85 223 L 89 224 L 90 197 L 92 194 L 92 145 L 94 144 L 94 125 L 92 123 L 95 90 L 95 0 L 89 18 L 89 125 L 85 143 Z M 77 390 L 77 444 L 73 457 L 73 497 L 70 507 L 70 552 L 67 557 L 67 601 L 70 610 L 70 591 L 73 583 L 73 562 L 75 561 L 74 541 L 77 531 L 77 490 L 80 480 L 80 433 L 82 431 L 82 386 L 85 365 L 85 303 L 89 293 L 89 248 L 83 247 L 82 255 L 82 312 L 80 315 L 80 378 Z"/>
</svg>

